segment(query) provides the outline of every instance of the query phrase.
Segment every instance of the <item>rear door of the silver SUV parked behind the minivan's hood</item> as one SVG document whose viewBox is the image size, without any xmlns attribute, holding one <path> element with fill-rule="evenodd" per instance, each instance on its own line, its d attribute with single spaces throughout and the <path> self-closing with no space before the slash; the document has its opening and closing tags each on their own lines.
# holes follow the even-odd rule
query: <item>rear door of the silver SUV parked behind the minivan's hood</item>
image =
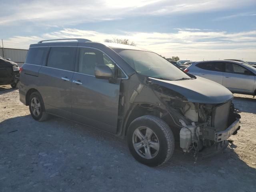
<svg viewBox="0 0 256 192">
<path fill-rule="evenodd" d="M 201 68 L 199 76 L 222 84 L 225 64 L 222 62 L 201 62 L 196 64 Z"/>
</svg>

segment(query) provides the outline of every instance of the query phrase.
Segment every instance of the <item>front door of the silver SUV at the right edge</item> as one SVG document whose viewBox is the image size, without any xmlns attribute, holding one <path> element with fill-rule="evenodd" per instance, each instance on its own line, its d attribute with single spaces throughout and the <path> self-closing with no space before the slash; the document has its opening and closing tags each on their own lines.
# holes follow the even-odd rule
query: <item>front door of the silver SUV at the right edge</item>
<svg viewBox="0 0 256 192">
<path fill-rule="evenodd" d="M 226 62 L 223 86 L 232 92 L 252 94 L 254 92 L 254 74 L 235 63 Z"/>
</svg>

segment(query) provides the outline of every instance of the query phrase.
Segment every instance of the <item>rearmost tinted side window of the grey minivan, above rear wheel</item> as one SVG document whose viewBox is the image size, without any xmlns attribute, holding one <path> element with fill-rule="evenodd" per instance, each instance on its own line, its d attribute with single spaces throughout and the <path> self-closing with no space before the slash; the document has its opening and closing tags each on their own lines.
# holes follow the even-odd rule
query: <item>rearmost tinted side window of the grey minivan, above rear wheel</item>
<svg viewBox="0 0 256 192">
<path fill-rule="evenodd" d="M 25 63 L 42 65 L 46 56 L 48 47 L 33 47 L 28 50 Z"/>
</svg>

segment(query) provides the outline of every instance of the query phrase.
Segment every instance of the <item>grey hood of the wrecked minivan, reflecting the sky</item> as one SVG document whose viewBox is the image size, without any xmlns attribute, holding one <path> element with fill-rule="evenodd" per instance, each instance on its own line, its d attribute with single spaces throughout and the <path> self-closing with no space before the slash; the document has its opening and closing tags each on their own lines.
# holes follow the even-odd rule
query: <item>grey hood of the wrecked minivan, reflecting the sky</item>
<svg viewBox="0 0 256 192">
<path fill-rule="evenodd" d="M 220 104 L 228 102 L 233 94 L 224 86 L 211 80 L 198 77 L 190 80 L 168 81 L 148 78 L 151 82 L 169 88 L 187 98 L 189 102 Z"/>
</svg>

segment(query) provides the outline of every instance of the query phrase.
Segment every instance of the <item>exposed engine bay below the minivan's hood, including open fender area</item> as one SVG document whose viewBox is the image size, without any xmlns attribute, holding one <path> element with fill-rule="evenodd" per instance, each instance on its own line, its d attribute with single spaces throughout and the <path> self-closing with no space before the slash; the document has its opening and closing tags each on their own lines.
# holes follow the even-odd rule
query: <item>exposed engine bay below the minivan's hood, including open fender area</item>
<svg viewBox="0 0 256 192">
<path fill-rule="evenodd" d="M 231 101 L 222 104 L 200 104 L 189 102 L 179 94 L 164 98 L 165 91 L 170 91 L 161 86 L 158 86 L 158 91 L 161 92 L 158 93 L 162 96 L 161 100 L 169 106 L 169 114 L 174 122 L 176 121 L 175 124 L 181 127 L 180 148 L 183 152 L 194 152 L 194 156 L 197 156 L 198 151 L 220 142 L 222 148 L 225 148 L 228 145 L 228 142 L 225 142 L 228 137 L 240 129 L 240 115 L 237 114 L 239 110 L 234 108 Z M 227 130 L 228 128 L 230 130 Z"/>
</svg>

